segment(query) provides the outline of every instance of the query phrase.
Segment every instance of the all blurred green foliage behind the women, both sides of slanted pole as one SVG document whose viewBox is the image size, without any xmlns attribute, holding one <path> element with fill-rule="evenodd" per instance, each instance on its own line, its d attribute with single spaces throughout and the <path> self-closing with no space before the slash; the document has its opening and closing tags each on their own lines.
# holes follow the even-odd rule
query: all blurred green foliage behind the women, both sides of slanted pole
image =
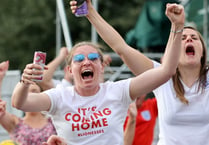
<svg viewBox="0 0 209 145">
<path fill-rule="evenodd" d="M 134 27 L 144 0 L 98 2 L 99 13 L 124 37 Z M 88 20 L 71 13 L 69 0 L 64 1 L 64 6 L 72 43 L 90 40 Z M 10 70 L 23 70 L 32 62 L 34 51 L 47 52 L 47 63 L 55 57 L 55 0 L 1 0 L 0 22 L 0 61 L 9 60 Z M 104 44 L 100 38 L 99 43 Z"/>
</svg>

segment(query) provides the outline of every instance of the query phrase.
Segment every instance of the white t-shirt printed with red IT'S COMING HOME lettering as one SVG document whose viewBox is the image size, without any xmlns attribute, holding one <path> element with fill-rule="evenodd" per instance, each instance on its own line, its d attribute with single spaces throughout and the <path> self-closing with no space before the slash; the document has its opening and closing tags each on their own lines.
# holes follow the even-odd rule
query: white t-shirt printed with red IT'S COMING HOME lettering
<svg viewBox="0 0 209 145">
<path fill-rule="evenodd" d="M 60 137 L 68 145 L 123 145 L 123 124 L 129 104 L 130 79 L 100 84 L 94 95 L 78 95 L 74 86 L 47 90 L 48 112 Z"/>
</svg>

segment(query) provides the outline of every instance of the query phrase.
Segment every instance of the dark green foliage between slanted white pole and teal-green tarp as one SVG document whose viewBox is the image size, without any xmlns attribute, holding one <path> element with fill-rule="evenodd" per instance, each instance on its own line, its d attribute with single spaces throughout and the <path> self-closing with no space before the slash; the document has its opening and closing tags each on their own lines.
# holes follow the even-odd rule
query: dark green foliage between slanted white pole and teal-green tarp
<svg viewBox="0 0 209 145">
<path fill-rule="evenodd" d="M 124 37 L 134 27 L 144 1 L 108 0 L 104 2 L 98 0 L 98 11 Z M 73 44 L 79 41 L 91 40 L 91 35 L 89 35 L 91 34 L 91 25 L 89 21 L 83 17 L 75 17 L 70 11 L 68 2 L 66 2 L 66 12 Z M 106 47 L 106 51 L 112 51 L 100 37 L 98 37 L 98 41 Z"/>
</svg>

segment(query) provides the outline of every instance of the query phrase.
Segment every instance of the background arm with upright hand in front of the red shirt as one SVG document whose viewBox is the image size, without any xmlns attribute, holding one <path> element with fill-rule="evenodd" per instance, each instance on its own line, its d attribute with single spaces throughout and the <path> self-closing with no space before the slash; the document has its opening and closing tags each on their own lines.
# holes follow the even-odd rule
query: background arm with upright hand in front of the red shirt
<svg viewBox="0 0 209 145">
<path fill-rule="evenodd" d="M 133 102 L 129 105 L 129 109 L 128 109 L 128 121 L 124 131 L 124 145 L 132 145 L 133 143 L 135 136 L 135 128 L 136 128 L 136 116 L 137 116 L 136 103 Z"/>
</svg>

